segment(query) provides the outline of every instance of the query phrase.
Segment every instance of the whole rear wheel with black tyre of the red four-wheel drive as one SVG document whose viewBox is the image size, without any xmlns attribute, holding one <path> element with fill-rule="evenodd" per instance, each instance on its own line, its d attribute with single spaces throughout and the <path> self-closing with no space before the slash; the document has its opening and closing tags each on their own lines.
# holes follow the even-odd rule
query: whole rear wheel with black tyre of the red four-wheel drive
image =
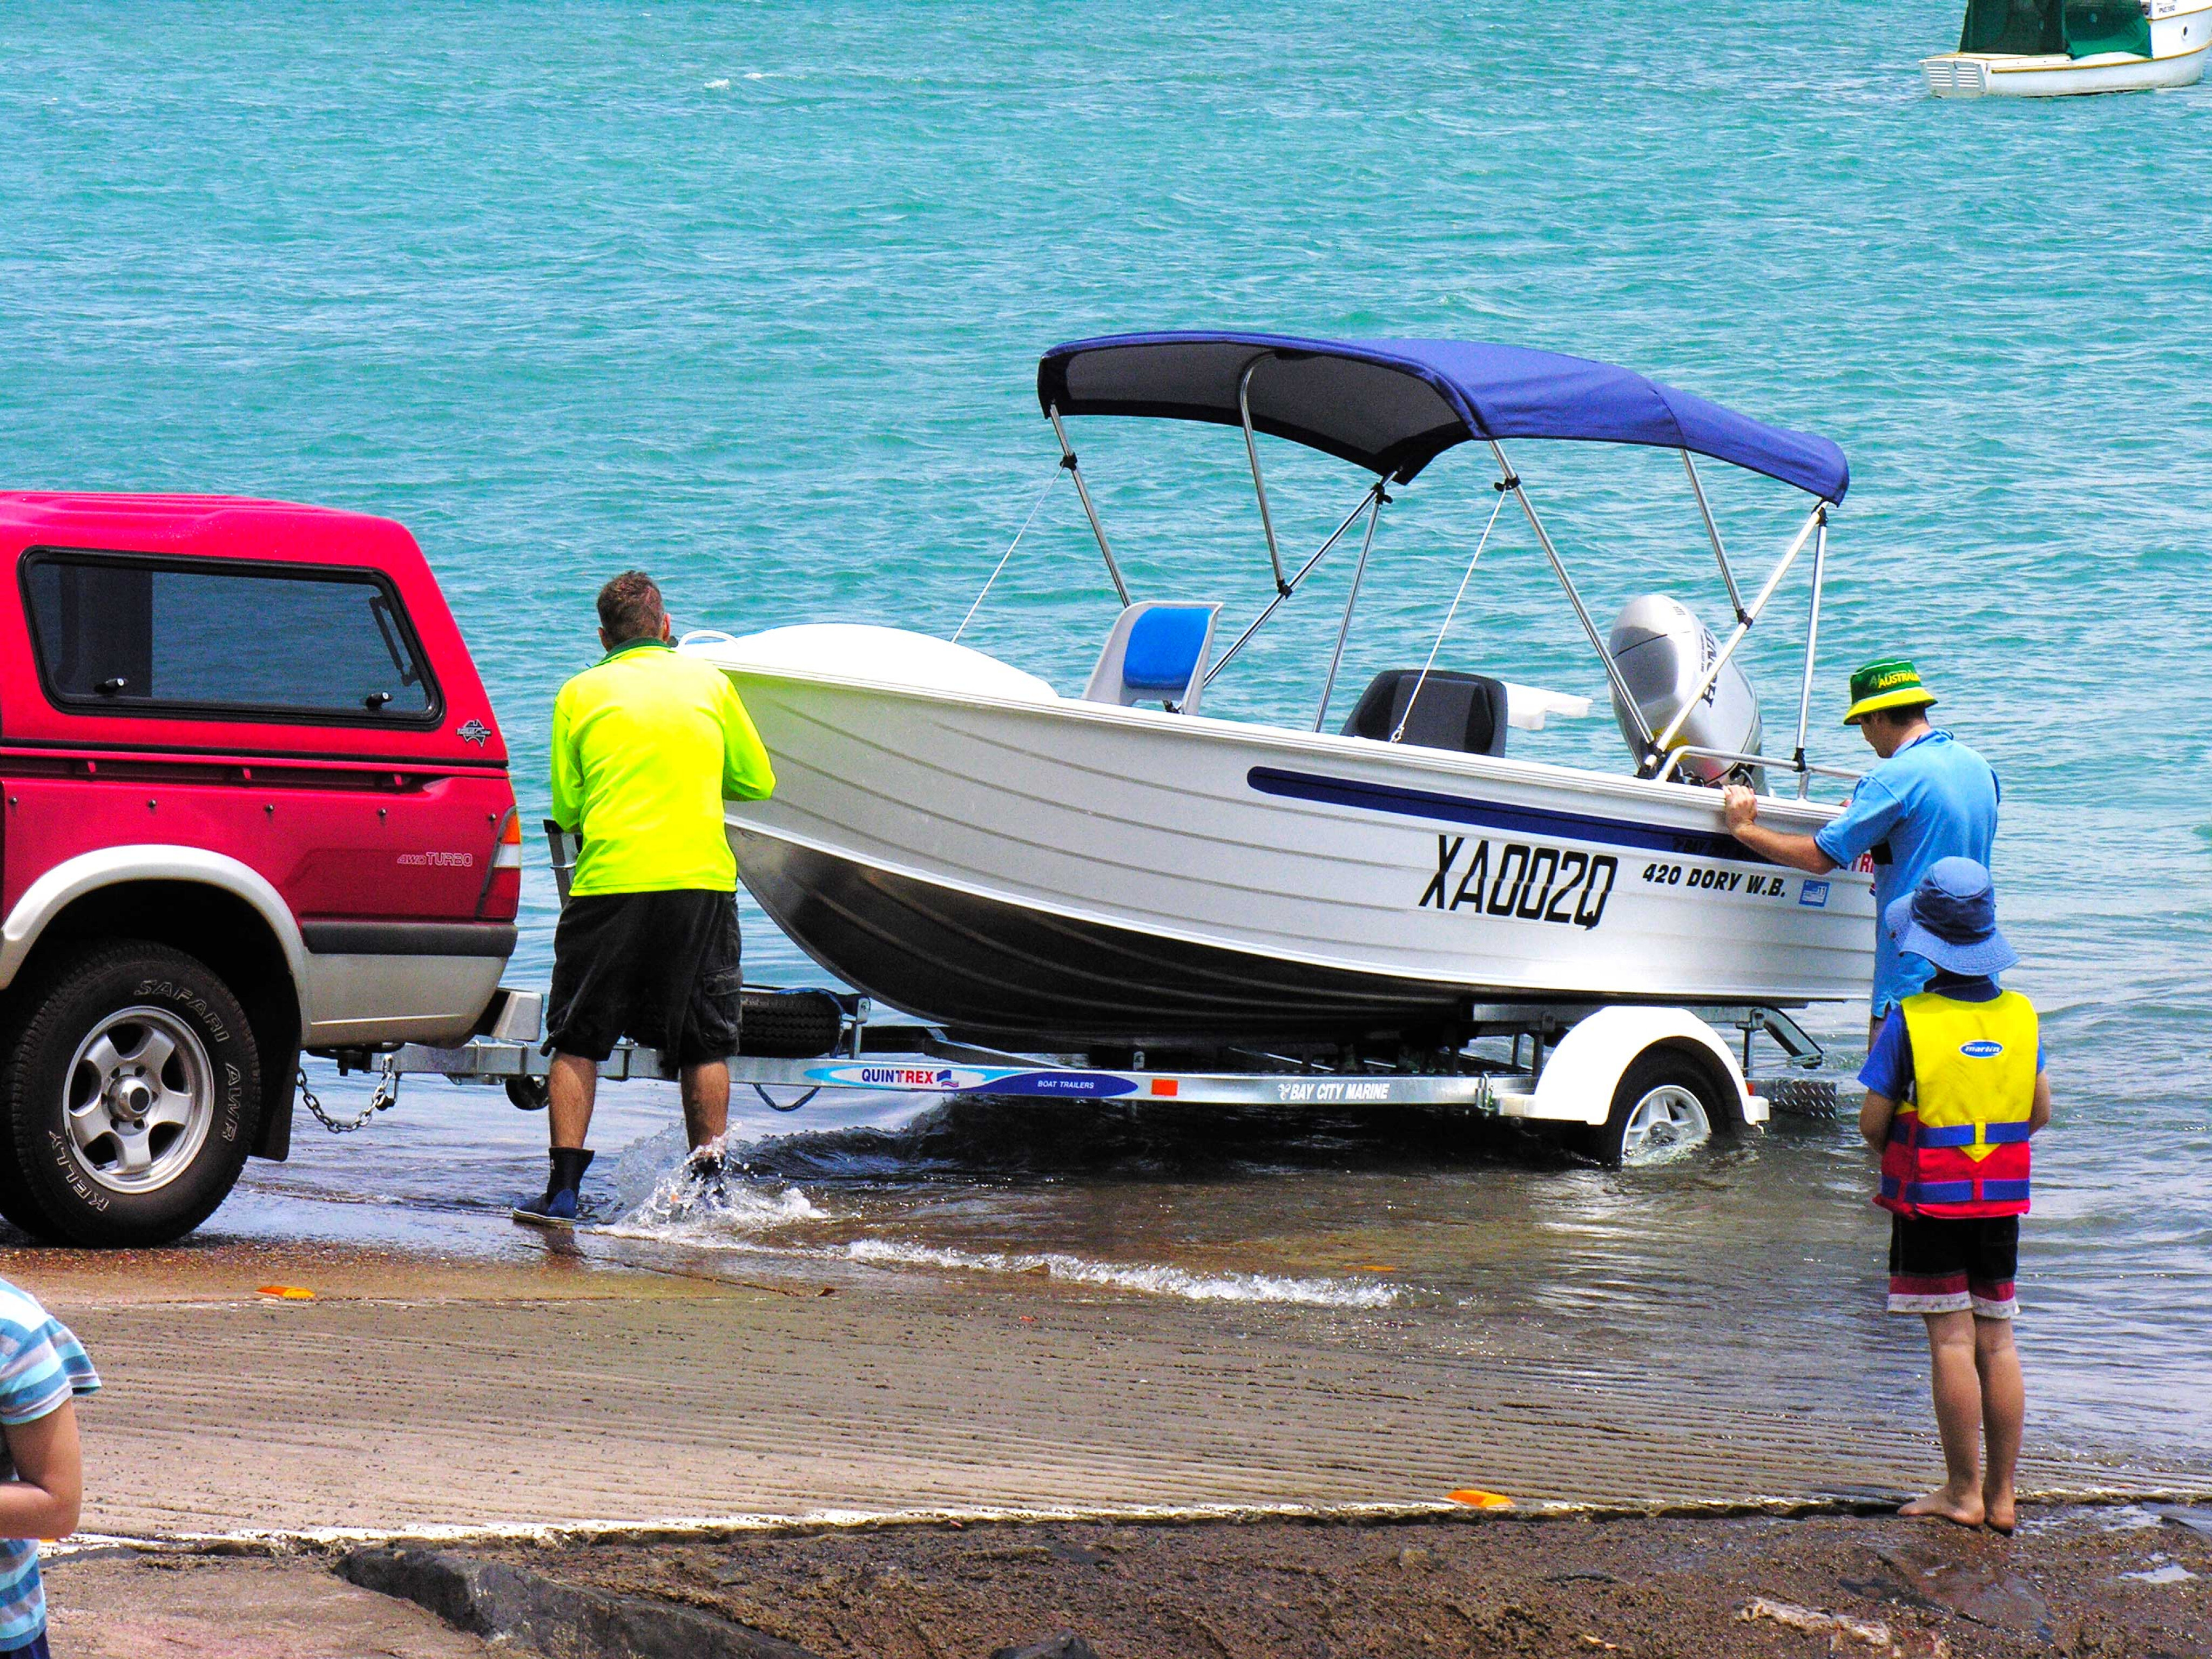
<svg viewBox="0 0 2212 1659">
<path fill-rule="evenodd" d="M 166 945 L 73 947 L 0 1060 L 0 1212 L 55 1243 L 181 1239 L 230 1197 L 261 1099 L 237 995 Z"/>
</svg>

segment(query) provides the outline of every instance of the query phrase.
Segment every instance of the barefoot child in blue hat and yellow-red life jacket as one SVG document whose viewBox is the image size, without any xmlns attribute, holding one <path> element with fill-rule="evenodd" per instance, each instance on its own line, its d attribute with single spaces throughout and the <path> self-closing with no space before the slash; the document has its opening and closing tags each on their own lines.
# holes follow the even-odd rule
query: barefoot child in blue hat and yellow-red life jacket
<svg viewBox="0 0 2212 1659">
<path fill-rule="evenodd" d="M 1889 1011 L 1858 1073 L 1858 1128 L 1882 1155 L 1874 1201 L 1891 1212 L 1889 1312 L 1927 1321 L 1949 1471 L 1940 1491 L 1898 1513 L 2011 1533 L 2026 1416 L 2013 1274 L 2028 1137 L 2051 1121 L 2035 1006 L 1997 989 L 2020 956 L 1997 931 L 1989 872 L 1973 858 L 1940 858 L 1882 925 L 1898 949 L 1936 964 L 1927 991 Z"/>
</svg>

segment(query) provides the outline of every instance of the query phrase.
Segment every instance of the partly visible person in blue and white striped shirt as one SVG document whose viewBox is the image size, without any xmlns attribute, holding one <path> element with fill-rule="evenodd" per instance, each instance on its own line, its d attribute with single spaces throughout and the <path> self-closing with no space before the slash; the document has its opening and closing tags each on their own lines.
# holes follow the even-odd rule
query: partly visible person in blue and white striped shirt
<svg viewBox="0 0 2212 1659">
<path fill-rule="evenodd" d="M 38 1540 L 77 1531 L 75 1398 L 100 1387 L 75 1334 L 0 1279 L 0 1659 L 51 1659 Z"/>
</svg>

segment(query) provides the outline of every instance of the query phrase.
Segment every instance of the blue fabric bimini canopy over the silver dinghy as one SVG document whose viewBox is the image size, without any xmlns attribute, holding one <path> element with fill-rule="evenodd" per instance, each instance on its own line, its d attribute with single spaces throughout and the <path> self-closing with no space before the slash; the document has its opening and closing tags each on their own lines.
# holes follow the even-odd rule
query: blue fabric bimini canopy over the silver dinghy
<svg viewBox="0 0 2212 1659">
<path fill-rule="evenodd" d="M 1690 449 L 1829 502 L 1851 487 L 1851 465 L 1827 438 L 1765 427 L 1635 369 L 1520 345 L 1104 334 L 1055 345 L 1037 363 L 1037 403 L 1064 416 L 1241 427 L 1239 385 L 1254 431 L 1400 484 L 1473 438 L 1584 438 Z"/>
</svg>

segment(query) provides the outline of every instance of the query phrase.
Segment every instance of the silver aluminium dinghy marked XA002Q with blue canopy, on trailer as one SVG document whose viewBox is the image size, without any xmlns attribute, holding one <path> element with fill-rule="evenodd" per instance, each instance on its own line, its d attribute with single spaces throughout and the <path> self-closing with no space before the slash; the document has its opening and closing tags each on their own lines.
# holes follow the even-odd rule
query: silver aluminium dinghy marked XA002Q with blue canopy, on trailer
<svg viewBox="0 0 2212 1659">
<path fill-rule="evenodd" d="M 1449 1044 L 1486 1004 L 1865 995 L 1867 878 L 1761 860 L 1728 836 L 1712 787 L 1792 772 L 1796 799 L 1772 801 L 1772 823 L 1812 830 L 1836 810 L 1805 799 L 1827 768 L 1803 759 L 1827 518 L 1849 482 L 1832 442 L 1626 369 L 1449 341 L 1110 336 L 1053 349 L 1037 383 L 1124 604 L 1084 695 L 883 626 L 686 641 L 732 675 L 776 765 L 774 799 L 730 807 L 743 880 L 832 973 L 953 1033 L 1018 1044 Z M 1219 606 L 1128 597 L 1064 425 L 1113 414 L 1243 429 L 1276 593 L 1228 648 Z M 1254 434 L 1371 478 L 1294 573 Z M 1506 460 L 1513 438 L 1679 449 L 1739 615 L 1725 644 L 1657 595 L 1604 639 Z M 1509 754 L 1509 732 L 1588 703 L 1447 670 L 1436 653 L 1380 675 L 1329 730 L 1387 487 L 1471 440 L 1597 648 L 1632 750 L 1621 774 Z M 1814 498 L 1756 595 L 1736 586 L 1692 453 Z M 1206 684 L 1352 540 L 1312 726 L 1199 712 Z M 1756 752 L 1734 650 L 1805 549 L 1796 752 L 1776 759 Z"/>
</svg>

